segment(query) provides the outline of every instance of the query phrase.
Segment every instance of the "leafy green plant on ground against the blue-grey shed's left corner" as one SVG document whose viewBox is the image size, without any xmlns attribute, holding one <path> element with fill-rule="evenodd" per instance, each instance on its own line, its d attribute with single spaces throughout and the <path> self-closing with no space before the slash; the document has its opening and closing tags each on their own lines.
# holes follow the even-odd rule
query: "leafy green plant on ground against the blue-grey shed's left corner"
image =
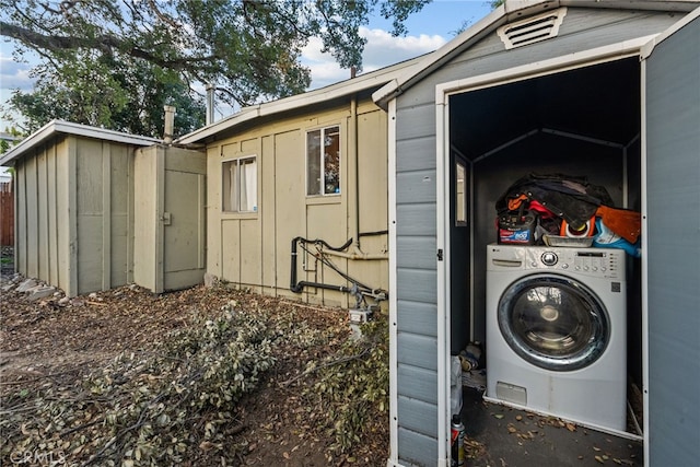
<svg viewBox="0 0 700 467">
<path fill-rule="evenodd" d="M 348 453 L 376 433 L 368 421 L 388 417 L 389 336 L 385 316 L 362 325 L 362 337 L 350 338 L 337 355 L 312 362 L 306 372 L 318 372 L 318 382 L 305 396 L 326 407 L 325 429 L 336 439 L 335 450 Z"/>
</svg>

